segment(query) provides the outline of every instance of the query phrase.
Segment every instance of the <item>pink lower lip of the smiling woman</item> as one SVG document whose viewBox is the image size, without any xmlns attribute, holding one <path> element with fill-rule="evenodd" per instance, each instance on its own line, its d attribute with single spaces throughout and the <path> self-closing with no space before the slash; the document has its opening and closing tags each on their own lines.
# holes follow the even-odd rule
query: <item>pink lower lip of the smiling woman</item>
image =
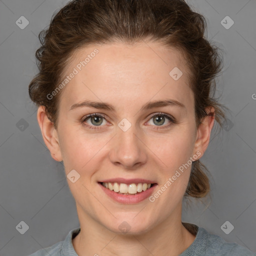
<svg viewBox="0 0 256 256">
<path fill-rule="evenodd" d="M 111 197 L 117 202 L 124 203 L 124 204 L 132 204 L 132 203 L 138 203 L 140 201 L 143 201 L 144 199 L 146 199 L 152 194 L 154 188 L 157 186 L 156 184 L 154 184 L 152 187 L 147 188 L 145 191 L 129 195 L 129 194 L 118 194 L 113 190 L 109 190 L 108 188 L 104 187 L 100 183 L 98 184 L 109 197 Z"/>
</svg>

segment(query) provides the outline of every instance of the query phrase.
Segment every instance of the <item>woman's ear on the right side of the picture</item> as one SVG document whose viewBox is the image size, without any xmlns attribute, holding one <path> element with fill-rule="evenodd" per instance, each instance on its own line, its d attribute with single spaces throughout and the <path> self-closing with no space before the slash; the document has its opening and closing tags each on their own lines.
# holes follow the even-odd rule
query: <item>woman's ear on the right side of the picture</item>
<svg viewBox="0 0 256 256">
<path fill-rule="evenodd" d="M 204 117 L 202 122 L 199 124 L 196 132 L 196 140 L 194 144 L 194 153 L 196 151 L 201 152 L 200 157 L 204 154 L 205 150 L 208 147 L 210 140 L 210 132 L 214 124 L 214 108 L 206 110 L 207 115 Z"/>
</svg>

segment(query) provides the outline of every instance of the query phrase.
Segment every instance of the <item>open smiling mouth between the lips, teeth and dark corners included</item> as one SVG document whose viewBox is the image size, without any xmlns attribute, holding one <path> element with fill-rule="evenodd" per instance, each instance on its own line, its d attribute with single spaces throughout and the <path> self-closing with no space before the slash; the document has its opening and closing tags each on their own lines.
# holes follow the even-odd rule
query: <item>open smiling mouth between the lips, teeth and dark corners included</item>
<svg viewBox="0 0 256 256">
<path fill-rule="evenodd" d="M 157 185 L 157 183 L 118 183 L 118 182 L 99 182 L 100 185 L 123 195 L 139 194 L 147 189 Z"/>
</svg>

